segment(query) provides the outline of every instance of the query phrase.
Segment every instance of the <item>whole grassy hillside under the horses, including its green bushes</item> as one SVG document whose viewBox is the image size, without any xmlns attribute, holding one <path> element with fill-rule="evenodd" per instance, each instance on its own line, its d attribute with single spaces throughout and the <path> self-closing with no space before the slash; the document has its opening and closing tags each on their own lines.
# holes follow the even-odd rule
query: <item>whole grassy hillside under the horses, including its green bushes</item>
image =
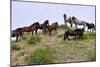
<svg viewBox="0 0 100 67">
<path fill-rule="evenodd" d="M 63 40 L 65 29 L 58 29 L 52 37 L 25 33 L 18 42 L 11 42 L 12 65 L 52 64 L 95 61 L 95 34 L 84 33 L 81 40 Z"/>
</svg>

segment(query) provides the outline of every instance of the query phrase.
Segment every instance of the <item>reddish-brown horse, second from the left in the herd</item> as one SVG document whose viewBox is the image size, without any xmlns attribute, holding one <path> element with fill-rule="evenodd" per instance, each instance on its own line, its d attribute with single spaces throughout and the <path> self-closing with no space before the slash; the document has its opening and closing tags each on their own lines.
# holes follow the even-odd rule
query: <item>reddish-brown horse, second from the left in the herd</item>
<svg viewBox="0 0 100 67">
<path fill-rule="evenodd" d="M 39 27 L 39 22 L 36 22 L 36 23 L 33 23 L 32 25 L 28 26 L 28 27 L 23 27 L 23 30 L 22 32 L 32 32 L 32 35 L 33 35 L 33 32 L 35 31 L 35 33 L 37 34 L 37 29 Z"/>
</svg>

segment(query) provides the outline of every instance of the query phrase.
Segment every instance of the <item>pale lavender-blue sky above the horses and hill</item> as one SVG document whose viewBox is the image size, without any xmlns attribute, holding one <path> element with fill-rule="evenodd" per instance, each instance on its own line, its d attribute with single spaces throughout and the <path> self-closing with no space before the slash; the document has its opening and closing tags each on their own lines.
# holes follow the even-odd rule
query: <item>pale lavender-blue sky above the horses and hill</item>
<svg viewBox="0 0 100 67">
<path fill-rule="evenodd" d="M 79 20 L 95 23 L 95 6 L 12 1 L 11 8 L 12 29 L 37 21 L 42 24 L 45 20 L 49 20 L 50 24 L 56 21 L 64 24 L 64 13 L 68 17 L 75 16 Z"/>
</svg>

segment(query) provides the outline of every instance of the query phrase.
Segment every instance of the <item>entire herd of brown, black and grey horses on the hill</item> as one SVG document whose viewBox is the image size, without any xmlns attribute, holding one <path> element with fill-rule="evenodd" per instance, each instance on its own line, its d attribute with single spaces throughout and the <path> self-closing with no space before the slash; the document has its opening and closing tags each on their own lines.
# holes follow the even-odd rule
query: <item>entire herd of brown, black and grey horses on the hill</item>
<svg viewBox="0 0 100 67">
<path fill-rule="evenodd" d="M 73 27 L 73 23 L 75 24 L 76 29 L 74 30 L 67 30 L 64 33 L 64 40 L 69 39 L 68 36 L 75 36 L 75 39 L 77 37 L 83 36 L 83 32 L 85 31 L 85 27 L 88 29 L 94 29 L 95 30 L 95 25 L 93 23 L 87 23 L 86 21 L 77 21 L 76 17 L 69 17 L 67 18 L 67 15 L 64 14 L 64 22 L 65 25 L 67 26 L 67 23 L 70 23 L 71 27 Z M 84 28 L 78 28 L 78 25 L 83 25 Z M 43 34 L 46 34 L 48 32 L 49 36 L 51 36 L 52 31 L 55 31 L 57 33 L 57 29 L 59 28 L 58 22 L 54 22 L 51 25 L 49 24 L 49 20 L 45 20 L 43 24 L 40 24 L 39 22 L 35 22 L 30 26 L 27 27 L 22 27 L 22 28 L 17 28 L 13 31 L 11 31 L 11 37 L 16 37 L 16 41 L 18 41 L 19 37 L 22 37 L 25 32 L 31 32 L 32 36 L 33 33 L 37 34 L 38 29 L 43 31 Z"/>
</svg>

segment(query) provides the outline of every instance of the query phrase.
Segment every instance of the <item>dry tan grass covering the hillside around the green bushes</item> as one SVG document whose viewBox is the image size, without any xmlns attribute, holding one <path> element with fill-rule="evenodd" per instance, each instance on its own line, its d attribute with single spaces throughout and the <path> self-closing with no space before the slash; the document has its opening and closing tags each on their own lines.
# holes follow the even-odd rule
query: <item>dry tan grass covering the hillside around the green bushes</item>
<svg viewBox="0 0 100 67">
<path fill-rule="evenodd" d="M 53 50 L 53 55 L 56 58 L 53 58 L 50 63 L 65 63 L 65 62 L 78 62 L 78 61 L 94 61 L 95 60 L 95 35 L 88 36 L 86 33 L 84 39 L 82 40 L 63 40 L 63 29 L 59 29 L 56 35 L 49 37 L 43 35 L 41 32 L 37 35 L 41 38 L 41 41 L 29 45 L 27 41 L 32 37 L 31 34 L 24 34 L 24 38 L 21 38 L 18 42 L 12 42 L 12 45 L 17 44 L 20 47 L 20 50 L 12 50 L 11 52 L 11 63 L 12 65 L 26 65 L 25 58 L 31 54 L 36 53 L 40 48 L 49 47 L 49 51 Z M 86 39 L 85 39 L 86 38 Z M 32 44 L 32 43 L 31 43 Z M 11 45 L 11 46 L 12 46 Z M 38 52 L 38 51 L 37 51 Z M 41 53 L 41 52 L 40 52 Z M 33 55 L 34 56 L 34 55 Z M 48 55 L 47 55 L 48 58 Z M 33 60 L 32 60 L 33 61 Z M 31 63 L 32 64 L 32 63 Z M 35 62 L 33 62 L 35 64 Z M 43 63 L 46 64 L 46 63 Z"/>
</svg>

